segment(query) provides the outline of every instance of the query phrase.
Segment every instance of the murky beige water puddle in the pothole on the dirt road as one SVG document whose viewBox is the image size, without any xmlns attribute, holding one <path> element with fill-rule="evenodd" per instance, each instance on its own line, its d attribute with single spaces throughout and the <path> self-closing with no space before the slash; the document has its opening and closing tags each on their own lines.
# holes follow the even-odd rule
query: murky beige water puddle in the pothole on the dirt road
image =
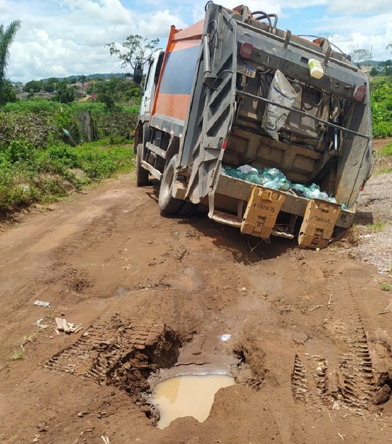
<svg viewBox="0 0 392 444">
<path fill-rule="evenodd" d="M 164 429 L 173 419 L 193 416 L 203 422 L 210 414 L 214 395 L 219 389 L 234 384 L 225 374 L 175 376 L 155 387 L 152 402 L 159 408 L 158 428 Z"/>
</svg>

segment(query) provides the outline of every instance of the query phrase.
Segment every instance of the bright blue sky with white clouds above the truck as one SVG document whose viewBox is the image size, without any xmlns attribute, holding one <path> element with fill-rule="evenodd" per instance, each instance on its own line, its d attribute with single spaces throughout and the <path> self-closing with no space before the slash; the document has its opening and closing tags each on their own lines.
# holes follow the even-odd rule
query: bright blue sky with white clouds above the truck
<svg viewBox="0 0 392 444">
<path fill-rule="evenodd" d="M 373 60 L 392 58 L 392 1 L 243 0 L 251 11 L 278 14 L 277 27 L 297 35 L 322 35 L 346 53 L 372 51 Z M 215 0 L 233 8 L 240 0 Z M 47 77 L 126 73 L 105 43 L 130 34 L 160 39 L 170 26 L 203 18 L 206 0 L 0 0 L 0 24 L 21 20 L 10 48 L 7 76 L 26 82 Z"/>
</svg>

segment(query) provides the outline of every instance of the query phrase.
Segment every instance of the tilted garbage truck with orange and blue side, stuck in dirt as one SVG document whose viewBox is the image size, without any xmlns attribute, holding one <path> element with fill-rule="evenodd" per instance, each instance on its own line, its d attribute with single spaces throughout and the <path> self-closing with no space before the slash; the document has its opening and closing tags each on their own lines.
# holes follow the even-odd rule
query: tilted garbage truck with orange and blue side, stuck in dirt
<svg viewBox="0 0 392 444">
<path fill-rule="evenodd" d="M 244 234 L 323 248 L 351 226 L 371 173 L 368 77 L 277 20 L 209 1 L 202 21 L 171 27 L 144 67 L 137 185 L 158 179 L 163 215 L 204 205 Z"/>
</svg>

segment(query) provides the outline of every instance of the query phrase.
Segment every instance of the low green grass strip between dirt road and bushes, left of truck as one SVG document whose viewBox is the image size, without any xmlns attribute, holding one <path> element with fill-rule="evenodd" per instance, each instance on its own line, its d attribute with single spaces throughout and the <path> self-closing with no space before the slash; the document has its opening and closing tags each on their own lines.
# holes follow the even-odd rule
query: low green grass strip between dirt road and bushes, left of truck
<svg viewBox="0 0 392 444">
<path fill-rule="evenodd" d="M 36 149 L 23 140 L 0 147 L 0 217 L 30 206 L 48 204 L 74 191 L 134 167 L 133 145 L 112 140 L 71 147 L 52 143 Z"/>
</svg>

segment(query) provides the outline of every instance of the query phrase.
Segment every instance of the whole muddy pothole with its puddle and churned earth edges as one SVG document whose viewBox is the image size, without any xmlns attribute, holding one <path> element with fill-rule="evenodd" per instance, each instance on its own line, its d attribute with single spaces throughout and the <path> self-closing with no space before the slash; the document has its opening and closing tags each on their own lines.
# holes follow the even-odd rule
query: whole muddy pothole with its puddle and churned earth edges
<svg viewBox="0 0 392 444">
<path fill-rule="evenodd" d="M 236 357 L 231 347 L 217 354 L 209 348 L 203 350 L 197 340 L 194 344 L 191 334 L 181 336 L 166 324 L 151 324 L 147 326 L 144 321 L 138 323 L 118 314 L 100 319 L 75 343 L 52 356 L 45 367 L 117 387 L 130 396 L 152 424 L 162 418 L 159 427 L 178 416 L 194 416 L 203 421 L 215 393 L 234 384 L 234 378 L 238 384 L 260 390 L 264 379 L 262 356 L 250 345 L 236 348 Z M 166 380 L 170 382 L 162 382 Z M 172 388 L 166 388 L 168 384 Z M 175 403 L 171 402 L 174 397 Z M 165 398 L 175 404 L 175 413 L 166 413 Z M 187 403 L 196 406 L 196 411 L 187 410 Z"/>
</svg>

